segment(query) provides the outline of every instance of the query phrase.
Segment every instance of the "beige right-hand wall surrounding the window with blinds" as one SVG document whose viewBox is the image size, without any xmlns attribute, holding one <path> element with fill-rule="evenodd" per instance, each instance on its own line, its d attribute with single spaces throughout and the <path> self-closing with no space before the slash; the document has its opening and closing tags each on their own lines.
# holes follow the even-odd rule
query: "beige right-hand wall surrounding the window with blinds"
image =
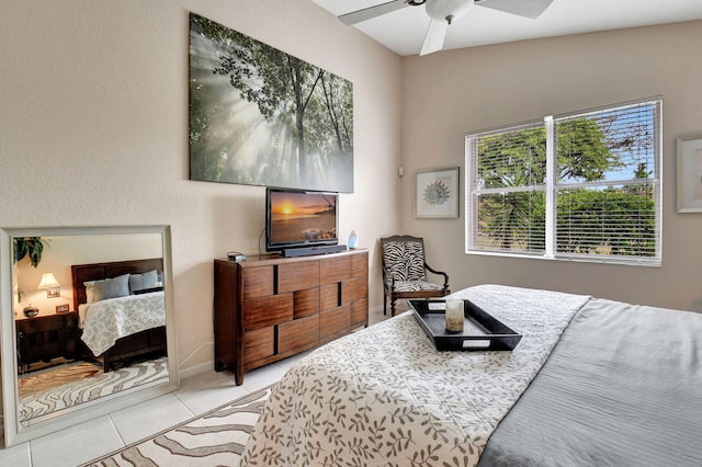
<svg viewBox="0 0 702 467">
<path fill-rule="evenodd" d="M 676 138 L 702 133 L 700 50 L 698 21 L 405 59 L 404 231 L 426 238 L 430 264 L 450 273 L 453 289 L 500 283 L 702 310 L 702 215 L 676 210 Z M 466 255 L 463 212 L 460 219 L 414 218 L 414 173 L 458 166 L 463 174 L 467 132 L 658 94 L 664 99 L 661 267 Z"/>
</svg>

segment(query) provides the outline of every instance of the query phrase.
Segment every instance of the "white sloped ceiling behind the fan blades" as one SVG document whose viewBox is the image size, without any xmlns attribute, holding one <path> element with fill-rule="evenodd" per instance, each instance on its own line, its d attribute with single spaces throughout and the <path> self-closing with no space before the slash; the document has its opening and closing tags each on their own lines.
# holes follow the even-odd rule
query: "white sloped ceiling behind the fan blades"
<svg viewBox="0 0 702 467">
<path fill-rule="evenodd" d="M 389 0 L 312 1 L 338 16 Z M 700 19 L 702 0 L 553 0 L 535 20 L 473 4 L 465 16 L 449 26 L 443 49 Z M 406 7 L 347 27 L 355 27 L 407 56 L 419 54 L 428 26 L 429 16 L 422 5 Z"/>
</svg>

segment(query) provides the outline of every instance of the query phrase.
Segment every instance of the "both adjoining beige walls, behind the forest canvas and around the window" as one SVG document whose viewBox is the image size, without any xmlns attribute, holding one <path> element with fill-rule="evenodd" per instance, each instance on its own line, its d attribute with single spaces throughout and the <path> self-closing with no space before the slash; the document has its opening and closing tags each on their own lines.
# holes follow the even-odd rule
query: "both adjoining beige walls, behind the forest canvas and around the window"
<svg viewBox="0 0 702 467">
<path fill-rule="evenodd" d="M 702 309 L 702 215 L 675 209 L 675 138 L 702 132 L 701 22 L 400 59 L 306 0 L 1 3 L 0 226 L 171 225 L 181 362 L 197 350 L 183 368 L 213 358 L 212 259 L 258 250 L 264 197 L 188 180 L 190 11 L 353 82 L 356 184 L 340 235 L 372 249 L 372 306 L 375 241 L 401 231 L 427 237 L 454 289 L 499 282 Z M 463 167 L 466 132 L 655 94 L 663 267 L 465 255 L 463 215 L 414 219 L 415 171 Z"/>
</svg>

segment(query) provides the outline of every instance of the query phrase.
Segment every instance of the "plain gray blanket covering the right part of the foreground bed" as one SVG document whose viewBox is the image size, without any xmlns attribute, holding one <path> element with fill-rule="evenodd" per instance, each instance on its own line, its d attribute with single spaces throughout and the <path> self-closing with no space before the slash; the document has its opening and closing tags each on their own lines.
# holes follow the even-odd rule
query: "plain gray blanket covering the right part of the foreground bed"
<svg viewBox="0 0 702 467">
<path fill-rule="evenodd" d="M 590 300 L 479 466 L 702 466 L 702 315 Z"/>
</svg>

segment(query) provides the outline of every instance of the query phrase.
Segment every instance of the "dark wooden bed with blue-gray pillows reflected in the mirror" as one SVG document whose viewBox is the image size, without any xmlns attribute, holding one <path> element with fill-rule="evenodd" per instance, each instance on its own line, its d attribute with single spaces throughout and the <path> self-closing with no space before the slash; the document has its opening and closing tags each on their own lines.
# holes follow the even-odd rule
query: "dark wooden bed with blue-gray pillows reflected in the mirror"
<svg viewBox="0 0 702 467">
<path fill-rule="evenodd" d="M 166 355 L 162 271 L 161 258 L 71 266 L 82 353 L 101 361 L 104 372 Z"/>
</svg>

